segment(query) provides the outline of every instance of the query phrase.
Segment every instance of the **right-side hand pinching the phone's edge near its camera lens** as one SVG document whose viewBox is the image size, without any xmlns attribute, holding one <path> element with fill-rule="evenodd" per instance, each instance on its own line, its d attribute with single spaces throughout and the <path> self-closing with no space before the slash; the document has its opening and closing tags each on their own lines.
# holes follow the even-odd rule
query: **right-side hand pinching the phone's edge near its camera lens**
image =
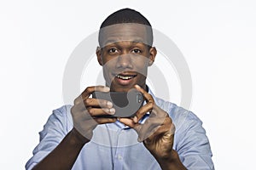
<svg viewBox="0 0 256 170">
<path fill-rule="evenodd" d="M 168 116 L 166 111 L 163 111 L 159 106 L 154 104 L 153 97 L 143 88 L 137 85 L 135 88 L 143 94 L 147 104 L 143 105 L 133 118 L 120 118 L 119 121 L 137 131 L 138 141 L 143 141 L 145 147 L 157 161 L 169 160 L 171 159 L 170 156 L 172 156 L 175 132 L 172 119 Z M 148 119 L 143 124 L 139 123 L 139 120 L 147 112 L 150 112 Z"/>
</svg>

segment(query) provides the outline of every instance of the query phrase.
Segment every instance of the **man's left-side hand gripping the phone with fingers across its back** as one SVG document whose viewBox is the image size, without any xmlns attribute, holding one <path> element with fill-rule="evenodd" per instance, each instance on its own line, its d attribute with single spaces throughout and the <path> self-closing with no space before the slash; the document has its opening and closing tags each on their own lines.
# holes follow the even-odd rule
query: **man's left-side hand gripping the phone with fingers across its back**
<svg viewBox="0 0 256 170">
<path fill-rule="evenodd" d="M 115 122 L 116 118 L 103 118 L 96 117 L 99 115 L 113 115 L 113 104 L 104 99 L 89 98 L 90 94 L 95 91 L 109 92 L 108 87 L 96 86 L 88 87 L 84 92 L 74 100 L 74 105 L 71 108 L 71 114 L 73 116 L 73 130 L 74 133 L 79 132 L 85 138 L 84 142 L 90 141 L 92 138 L 92 131 L 98 124 Z"/>
</svg>

